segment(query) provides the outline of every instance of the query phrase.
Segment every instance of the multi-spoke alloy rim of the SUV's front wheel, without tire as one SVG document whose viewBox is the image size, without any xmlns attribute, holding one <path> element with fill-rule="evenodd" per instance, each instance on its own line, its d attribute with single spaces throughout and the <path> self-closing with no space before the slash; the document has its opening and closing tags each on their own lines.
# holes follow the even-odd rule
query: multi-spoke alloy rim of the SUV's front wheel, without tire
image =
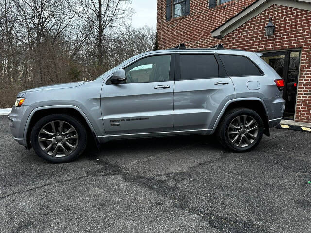
<svg viewBox="0 0 311 233">
<path fill-rule="evenodd" d="M 41 149 L 52 157 L 65 157 L 76 150 L 79 136 L 68 122 L 57 120 L 44 125 L 39 131 Z"/>
</svg>

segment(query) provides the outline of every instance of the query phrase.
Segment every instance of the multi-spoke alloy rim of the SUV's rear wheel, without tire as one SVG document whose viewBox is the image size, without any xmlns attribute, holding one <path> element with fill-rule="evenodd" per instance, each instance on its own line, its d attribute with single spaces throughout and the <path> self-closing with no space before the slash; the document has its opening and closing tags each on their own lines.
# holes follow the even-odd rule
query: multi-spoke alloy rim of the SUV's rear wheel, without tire
<svg viewBox="0 0 311 233">
<path fill-rule="evenodd" d="M 258 136 L 258 123 L 251 116 L 237 116 L 229 124 L 227 136 L 234 146 L 247 147 L 254 143 Z"/>
</svg>

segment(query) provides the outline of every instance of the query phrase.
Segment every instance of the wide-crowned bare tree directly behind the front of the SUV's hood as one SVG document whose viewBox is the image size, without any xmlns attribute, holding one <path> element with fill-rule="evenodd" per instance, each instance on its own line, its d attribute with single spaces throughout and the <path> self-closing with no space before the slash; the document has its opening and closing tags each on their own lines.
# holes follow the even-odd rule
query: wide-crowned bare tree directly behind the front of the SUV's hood
<svg viewBox="0 0 311 233">
<path fill-rule="evenodd" d="M 58 78 L 55 48 L 74 18 L 66 0 L 16 0 L 20 15 L 19 41 L 34 61 L 33 78 L 41 84 Z"/>
</svg>

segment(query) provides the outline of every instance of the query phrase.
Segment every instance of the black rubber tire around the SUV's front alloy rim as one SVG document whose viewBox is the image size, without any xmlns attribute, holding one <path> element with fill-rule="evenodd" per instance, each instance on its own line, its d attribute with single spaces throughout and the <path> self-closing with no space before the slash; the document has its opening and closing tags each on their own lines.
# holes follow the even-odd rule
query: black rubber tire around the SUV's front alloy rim
<svg viewBox="0 0 311 233">
<path fill-rule="evenodd" d="M 39 133 L 40 130 L 53 121 L 64 121 L 65 123 L 70 124 L 74 127 L 76 135 L 78 135 L 77 143 L 75 145 L 74 151 L 69 153 L 64 157 L 52 157 L 48 153 L 44 152 L 39 144 Z M 56 132 L 55 132 L 56 133 Z M 83 151 L 86 149 L 87 144 L 87 132 L 84 125 L 76 118 L 69 116 L 67 114 L 51 114 L 48 116 L 44 116 L 41 118 L 32 128 L 30 134 L 30 140 L 33 149 L 35 150 L 36 154 L 39 155 L 41 158 L 50 161 L 52 163 L 65 163 L 76 159 L 80 156 Z M 56 142 L 55 142 L 56 143 Z M 63 143 L 63 142 L 62 142 Z M 64 142 L 65 144 L 66 142 Z"/>
</svg>

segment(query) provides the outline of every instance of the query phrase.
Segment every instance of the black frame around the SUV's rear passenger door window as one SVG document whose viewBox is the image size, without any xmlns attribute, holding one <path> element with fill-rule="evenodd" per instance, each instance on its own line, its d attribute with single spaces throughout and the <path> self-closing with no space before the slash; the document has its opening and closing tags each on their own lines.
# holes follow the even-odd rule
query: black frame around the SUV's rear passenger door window
<svg viewBox="0 0 311 233">
<path fill-rule="evenodd" d="M 225 78 L 228 77 L 224 64 L 220 60 L 217 53 L 200 53 L 200 52 L 191 52 L 191 53 L 176 53 L 175 56 L 175 81 L 184 81 L 184 80 L 199 80 L 196 78 L 193 79 L 181 79 L 181 69 L 180 69 L 180 55 L 213 55 L 215 57 L 216 62 L 218 63 L 218 76 L 216 77 L 207 77 L 207 78 L 199 78 L 199 79 L 216 79 L 216 78 Z"/>
</svg>

